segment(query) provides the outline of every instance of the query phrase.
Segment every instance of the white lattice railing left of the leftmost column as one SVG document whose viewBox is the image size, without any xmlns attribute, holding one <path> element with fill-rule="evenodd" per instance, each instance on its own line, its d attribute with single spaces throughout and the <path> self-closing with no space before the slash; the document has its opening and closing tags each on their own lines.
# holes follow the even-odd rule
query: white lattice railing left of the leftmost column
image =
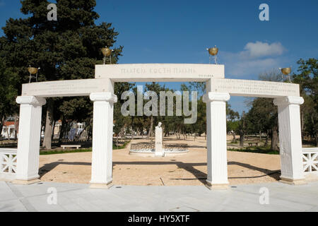
<svg viewBox="0 0 318 226">
<path fill-rule="evenodd" d="M 0 179 L 16 178 L 17 150 L 0 148 Z"/>
</svg>

